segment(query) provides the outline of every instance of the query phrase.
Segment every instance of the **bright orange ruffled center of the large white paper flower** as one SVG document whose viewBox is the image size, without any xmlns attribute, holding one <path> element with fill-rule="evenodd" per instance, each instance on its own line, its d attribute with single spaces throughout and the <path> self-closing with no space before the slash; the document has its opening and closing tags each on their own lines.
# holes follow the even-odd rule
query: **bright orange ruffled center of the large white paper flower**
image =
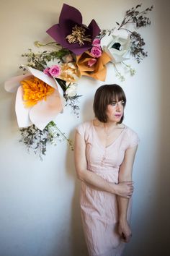
<svg viewBox="0 0 170 256">
<path fill-rule="evenodd" d="M 42 99 L 46 101 L 47 96 L 52 94 L 55 90 L 37 77 L 22 80 L 21 85 L 24 92 L 24 105 L 28 108 L 37 104 L 38 101 L 42 101 Z"/>
</svg>

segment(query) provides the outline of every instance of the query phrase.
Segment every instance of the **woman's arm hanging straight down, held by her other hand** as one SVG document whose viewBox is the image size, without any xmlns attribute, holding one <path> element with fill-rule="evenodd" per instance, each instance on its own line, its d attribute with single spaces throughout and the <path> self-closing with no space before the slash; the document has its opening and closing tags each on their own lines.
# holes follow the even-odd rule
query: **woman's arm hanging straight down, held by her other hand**
<svg viewBox="0 0 170 256">
<path fill-rule="evenodd" d="M 125 151 L 125 158 L 120 166 L 119 182 L 132 180 L 133 163 L 135 160 L 135 153 L 137 148 L 138 148 L 138 145 L 136 145 L 133 148 L 128 148 L 128 150 Z M 119 205 L 118 233 L 120 234 L 124 242 L 129 242 L 130 237 L 132 236 L 132 232 L 130 230 L 130 226 L 127 220 L 128 202 L 129 202 L 128 198 L 120 197 L 120 196 L 118 197 L 118 205 Z"/>
</svg>

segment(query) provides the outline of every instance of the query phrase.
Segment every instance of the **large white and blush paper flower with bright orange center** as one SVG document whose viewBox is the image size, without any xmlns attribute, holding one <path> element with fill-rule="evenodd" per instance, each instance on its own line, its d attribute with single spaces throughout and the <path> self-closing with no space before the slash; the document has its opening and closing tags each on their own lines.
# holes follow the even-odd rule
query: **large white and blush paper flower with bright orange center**
<svg viewBox="0 0 170 256">
<path fill-rule="evenodd" d="M 11 93 L 17 90 L 15 111 L 19 127 L 35 126 L 42 130 L 63 111 L 63 96 L 53 77 L 27 67 L 29 73 L 12 77 L 5 83 Z"/>
</svg>

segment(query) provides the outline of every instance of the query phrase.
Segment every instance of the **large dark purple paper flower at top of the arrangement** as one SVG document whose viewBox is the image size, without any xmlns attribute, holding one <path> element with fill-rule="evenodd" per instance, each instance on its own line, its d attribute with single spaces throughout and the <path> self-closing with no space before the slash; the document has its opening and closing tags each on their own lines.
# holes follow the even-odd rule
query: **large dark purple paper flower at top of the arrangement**
<svg viewBox="0 0 170 256">
<path fill-rule="evenodd" d="M 83 54 L 91 48 L 94 38 L 100 29 L 95 20 L 91 20 L 88 27 L 82 24 L 82 16 L 78 9 L 63 4 L 59 24 L 47 30 L 47 33 L 64 48 L 68 48 L 76 55 Z"/>
</svg>

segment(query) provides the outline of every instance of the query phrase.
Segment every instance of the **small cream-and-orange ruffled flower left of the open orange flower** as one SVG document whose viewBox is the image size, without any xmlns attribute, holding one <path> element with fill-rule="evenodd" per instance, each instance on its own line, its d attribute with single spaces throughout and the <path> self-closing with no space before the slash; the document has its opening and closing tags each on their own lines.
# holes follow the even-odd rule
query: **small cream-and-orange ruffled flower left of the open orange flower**
<svg viewBox="0 0 170 256">
<path fill-rule="evenodd" d="M 66 85 L 76 82 L 79 77 L 81 77 L 81 74 L 75 63 L 69 62 L 61 65 L 61 74 L 58 78 L 66 81 Z"/>
</svg>

